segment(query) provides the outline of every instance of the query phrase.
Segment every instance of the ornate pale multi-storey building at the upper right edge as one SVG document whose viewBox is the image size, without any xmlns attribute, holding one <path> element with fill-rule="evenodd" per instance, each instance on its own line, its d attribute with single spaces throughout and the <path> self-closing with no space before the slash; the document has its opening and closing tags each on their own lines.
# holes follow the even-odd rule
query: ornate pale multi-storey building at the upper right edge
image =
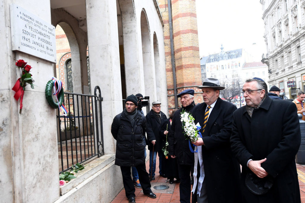
<svg viewBox="0 0 305 203">
<path fill-rule="evenodd" d="M 267 53 L 269 87 L 278 86 L 287 98 L 296 98 L 305 85 L 305 1 L 261 0 Z M 289 82 L 292 85 L 287 85 Z M 294 82 L 292 82 L 294 81 Z"/>
</svg>

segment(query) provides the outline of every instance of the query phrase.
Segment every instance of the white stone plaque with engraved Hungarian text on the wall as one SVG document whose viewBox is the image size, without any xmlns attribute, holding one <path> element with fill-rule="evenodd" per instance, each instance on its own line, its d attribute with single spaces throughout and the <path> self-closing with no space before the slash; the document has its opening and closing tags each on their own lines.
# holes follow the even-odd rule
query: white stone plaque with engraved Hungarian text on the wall
<svg viewBox="0 0 305 203">
<path fill-rule="evenodd" d="M 11 4 L 12 50 L 56 63 L 55 27 L 38 16 Z"/>
</svg>

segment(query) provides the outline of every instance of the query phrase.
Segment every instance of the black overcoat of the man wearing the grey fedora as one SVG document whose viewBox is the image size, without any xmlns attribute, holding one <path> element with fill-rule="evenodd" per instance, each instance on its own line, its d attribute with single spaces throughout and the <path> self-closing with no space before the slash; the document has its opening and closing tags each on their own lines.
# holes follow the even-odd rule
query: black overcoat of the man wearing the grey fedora
<svg viewBox="0 0 305 203">
<path fill-rule="evenodd" d="M 206 104 L 198 104 L 193 111 L 195 124 L 203 126 Z M 217 99 L 210 113 L 203 135 L 202 154 L 209 203 L 240 202 L 240 165 L 230 148 L 233 112 L 235 105 Z M 201 129 L 201 133 L 202 133 Z M 198 168 L 199 168 L 198 163 Z M 198 171 L 200 171 L 198 169 Z M 199 179 L 197 174 L 197 180 Z M 197 188 L 192 196 L 196 202 Z"/>
</svg>

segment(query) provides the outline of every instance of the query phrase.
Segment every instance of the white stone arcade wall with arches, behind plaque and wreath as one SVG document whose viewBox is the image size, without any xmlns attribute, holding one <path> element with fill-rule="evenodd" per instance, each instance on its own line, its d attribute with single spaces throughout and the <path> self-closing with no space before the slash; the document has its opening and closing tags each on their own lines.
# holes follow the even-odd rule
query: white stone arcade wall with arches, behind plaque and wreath
<svg viewBox="0 0 305 203">
<path fill-rule="evenodd" d="M 42 0 L 39 4 L 34 0 L 14 1 L 45 22 L 62 27 L 70 51 L 69 48 L 63 51 L 65 48 L 58 45 L 64 61 L 58 60 L 57 65 L 12 51 L 11 2 L 0 2 L 0 33 L 5 36 L 0 39 L 3 56 L 0 68 L 3 76 L 0 88 L 2 201 L 41 202 L 38 194 L 43 194 L 47 202 L 112 201 L 123 188 L 120 169 L 113 162 L 116 141 L 110 133 L 114 116 L 123 110 L 122 92 L 127 95 L 140 92 L 150 96 L 151 101 L 159 100 L 167 113 L 163 20 L 156 1 Z M 91 61 L 91 87 L 101 87 L 103 97 L 105 155 L 90 160 L 87 169 L 76 179 L 59 187 L 57 111 L 45 99 L 45 85 L 53 76 L 62 79 L 60 68 L 71 59 L 73 92 L 88 93 L 87 55 Z M 15 66 L 19 59 L 33 67 L 30 73 L 36 85 L 34 89 L 26 87 L 21 114 L 19 101 L 14 99 L 12 91 L 21 74 Z M 96 192 L 92 194 L 92 191 Z"/>
</svg>

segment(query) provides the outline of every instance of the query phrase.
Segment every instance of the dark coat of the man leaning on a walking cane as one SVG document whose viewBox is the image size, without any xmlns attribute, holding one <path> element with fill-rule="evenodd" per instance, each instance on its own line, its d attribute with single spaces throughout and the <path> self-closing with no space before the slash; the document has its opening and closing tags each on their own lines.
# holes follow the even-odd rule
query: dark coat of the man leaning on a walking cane
<svg viewBox="0 0 305 203">
<path fill-rule="evenodd" d="M 160 111 L 161 113 L 161 122 L 158 119 L 158 115 L 154 113 L 154 111 L 151 109 L 148 114 L 146 114 L 146 123 L 147 123 L 147 128 L 151 129 L 153 134 L 155 135 L 156 138 L 156 143 L 154 147 L 154 151 L 161 151 L 162 149 L 162 138 L 160 137 L 159 130 L 160 130 L 160 125 L 161 123 L 167 119 L 165 114 Z M 152 150 L 153 144 L 151 142 L 147 143 L 148 144 L 148 149 Z"/>
</svg>

